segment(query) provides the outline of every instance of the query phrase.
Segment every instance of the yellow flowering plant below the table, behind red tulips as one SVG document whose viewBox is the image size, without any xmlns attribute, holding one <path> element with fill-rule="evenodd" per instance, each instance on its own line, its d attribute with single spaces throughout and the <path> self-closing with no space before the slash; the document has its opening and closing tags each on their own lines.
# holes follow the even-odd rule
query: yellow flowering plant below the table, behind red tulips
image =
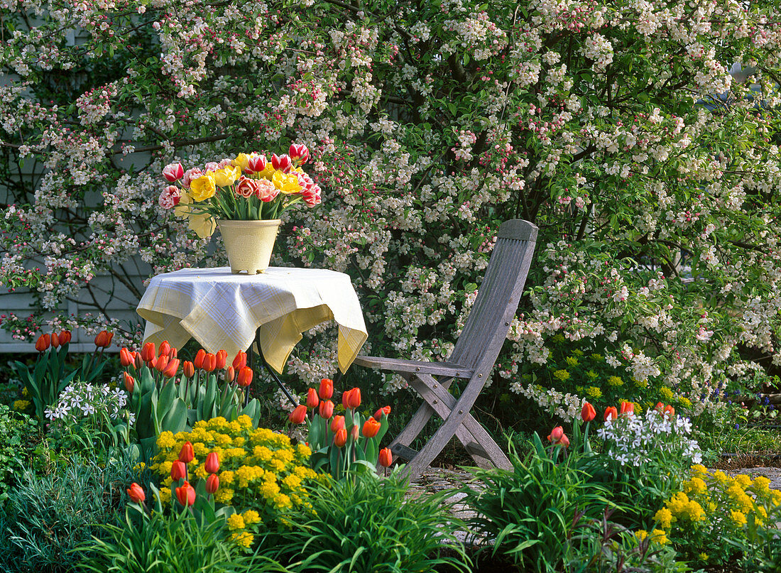
<svg viewBox="0 0 781 573">
<path fill-rule="evenodd" d="M 177 462 L 187 442 L 192 457 L 182 479 Z M 212 495 L 215 513 L 226 516 L 231 539 L 245 547 L 254 542 L 259 524 L 279 520 L 292 508 L 308 504 L 306 486 L 318 479 L 307 465 L 309 447 L 294 445 L 289 437 L 270 429 L 255 429 L 246 415 L 234 422 L 221 417 L 202 420 L 191 432 L 162 432 L 157 446 L 159 454 L 151 469 L 161 478 L 163 503 L 181 504 L 187 498 L 177 486 L 184 487 L 185 481 L 195 484 L 194 499 L 205 497 L 208 502 Z M 218 472 L 209 471 L 213 469 L 209 454 L 219 459 Z M 214 479 L 209 484 L 210 475 L 216 476 L 216 487 Z"/>
</svg>

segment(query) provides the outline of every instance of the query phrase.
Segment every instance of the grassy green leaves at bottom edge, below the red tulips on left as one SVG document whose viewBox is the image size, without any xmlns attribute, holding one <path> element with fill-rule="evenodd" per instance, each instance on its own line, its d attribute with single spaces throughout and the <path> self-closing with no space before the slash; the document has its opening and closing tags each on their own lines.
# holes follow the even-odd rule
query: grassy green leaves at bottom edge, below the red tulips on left
<svg viewBox="0 0 781 573">
<path fill-rule="evenodd" d="M 256 557 L 226 540 L 223 521 L 201 525 L 187 511 L 126 511 L 119 525 L 105 525 L 108 539 L 95 538 L 82 567 L 95 573 L 241 573 L 285 571 L 266 557 Z"/>
</svg>

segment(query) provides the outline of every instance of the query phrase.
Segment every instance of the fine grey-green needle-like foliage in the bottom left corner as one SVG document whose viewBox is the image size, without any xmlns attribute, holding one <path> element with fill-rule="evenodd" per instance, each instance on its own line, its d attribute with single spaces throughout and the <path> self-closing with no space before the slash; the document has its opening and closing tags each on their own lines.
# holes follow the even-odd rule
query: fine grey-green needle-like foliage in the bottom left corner
<svg viewBox="0 0 781 573">
<path fill-rule="evenodd" d="M 72 457 L 49 475 L 24 472 L 0 513 L 3 571 L 70 571 L 89 557 L 83 545 L 101 536 L 97 524 L 119 520 L 125 489 L 139 481 L 130 458 L 105 465 Z"/>
</svg>

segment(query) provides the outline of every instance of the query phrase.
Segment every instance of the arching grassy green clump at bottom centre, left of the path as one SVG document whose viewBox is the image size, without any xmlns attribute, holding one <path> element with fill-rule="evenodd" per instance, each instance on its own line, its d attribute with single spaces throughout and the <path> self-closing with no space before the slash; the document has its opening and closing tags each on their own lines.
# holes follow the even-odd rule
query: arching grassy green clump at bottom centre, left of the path
<svg viewBox="0 0 781 573">
<path fill-rule="evenodd" d="M 471 571 L 456 539 L 462 524 L 451 516 L 445 494 L 406 499 L 407 487 L 373 473 L 319 483 L 312 507 L 289 516 L 290 529 L 268 536 L 262 547 L 291 571 Z"/>
</svg>

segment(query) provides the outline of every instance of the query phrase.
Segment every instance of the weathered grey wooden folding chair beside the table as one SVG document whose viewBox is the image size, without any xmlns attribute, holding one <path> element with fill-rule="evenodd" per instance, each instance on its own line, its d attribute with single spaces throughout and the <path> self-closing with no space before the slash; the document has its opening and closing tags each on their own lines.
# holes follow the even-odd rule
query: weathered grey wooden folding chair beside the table
<svg viewBox="0 0 781 573">
<path fill-rule="evenodd" d="M 394 456 L 408 461 L 404 470 L 408 478 L 420 475 L 454 435 L 480 467 L 512 468 L 505 453 L 469 411 L 507 338 L 536 241 L 537 226 L 528 221 L 512 219 L 499 227 L 480 291 L 448 361 L 355 358 L 358 365 L 398 372 L 425 400 L 390 446 Z M 469 379 L 458 400 L 448 391 L 456 378 Z M 410 443 L 435 413 L 443 424 L 420 451 L 412 450 Z"/>
</svg>

